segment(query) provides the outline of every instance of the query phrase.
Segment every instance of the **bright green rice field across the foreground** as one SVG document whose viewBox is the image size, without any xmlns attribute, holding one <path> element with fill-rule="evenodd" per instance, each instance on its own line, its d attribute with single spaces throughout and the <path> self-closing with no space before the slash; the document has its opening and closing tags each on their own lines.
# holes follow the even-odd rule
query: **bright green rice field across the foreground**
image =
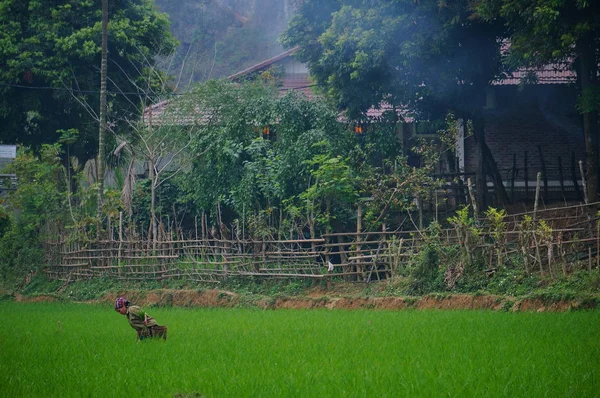
<svg viewBox="0 0 600 398">
<path fill-rule="evenodd" d="M 2 397 L 599 397 L 600 312 L 0 302 Z"/>
</svg>

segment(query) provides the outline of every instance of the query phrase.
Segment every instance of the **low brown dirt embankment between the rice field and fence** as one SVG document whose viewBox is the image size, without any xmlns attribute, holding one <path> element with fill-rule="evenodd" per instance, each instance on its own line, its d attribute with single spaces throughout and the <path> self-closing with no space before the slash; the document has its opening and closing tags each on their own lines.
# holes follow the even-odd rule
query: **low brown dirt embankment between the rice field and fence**
<svg viewBox="0 0 600 398">
<path fill-rule="evenodd" d="M 493 311 L 552 311 L 592 309 L 596 301 L 559 300 L 546 302 L 539 298 L 514 299 L 494 295 L 430 295 L 424 297 L 349 297 L 332 296 L 327 291 L 311 291 L 305 296 L 266 297 L 248 296 L 223 290 L 152 290 L 118 291 L 93 300 L 95 303 L 113 303 L 115 297 L 125 296 L 137 305 L 174 307 L 254 307 L 263 309 L 440 309 L 440 310 L 493 310 Z M 55 301 L 56 297 L 27 297 L 15 295 L 15 301 Z"/>
</svg>

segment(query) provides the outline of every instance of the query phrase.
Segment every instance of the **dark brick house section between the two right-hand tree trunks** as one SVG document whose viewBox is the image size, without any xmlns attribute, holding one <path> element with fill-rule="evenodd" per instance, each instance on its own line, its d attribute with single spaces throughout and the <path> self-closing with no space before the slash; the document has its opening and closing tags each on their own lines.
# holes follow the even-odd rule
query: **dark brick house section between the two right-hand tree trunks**
<svg viewBox="0 0 600 398">
<path fill-rule="evenodd" d="M 580 199 L 585 140 L 575 82 L 567 65 L 547 65 L 518 70 L 488 88 L 486 143 L 509 197 L 534 199 L 536 175 L 542 172 L 543 199 Z M 476 170 L 474 138 L 463 137 L 460 145 L 461 169 Z"/>
</svg>

